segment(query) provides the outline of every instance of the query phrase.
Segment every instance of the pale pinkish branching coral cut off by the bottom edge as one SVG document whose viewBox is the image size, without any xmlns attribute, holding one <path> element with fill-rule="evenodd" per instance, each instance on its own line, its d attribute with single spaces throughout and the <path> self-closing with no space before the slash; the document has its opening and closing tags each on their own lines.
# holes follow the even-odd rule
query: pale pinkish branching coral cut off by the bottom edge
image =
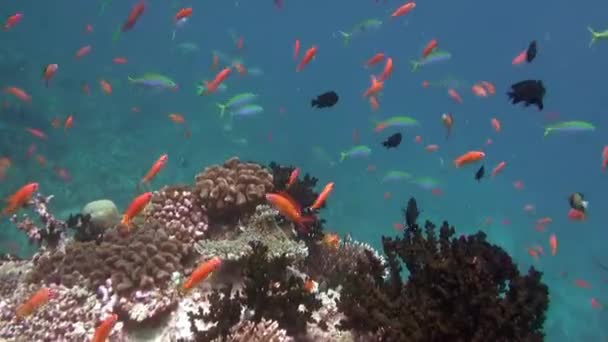
<svg viewBox="0 0 608 342">
<path fill-rule="evenodd" d="M 231 329 L 226 339 L 216 342 L 292 342 L 285 330 L 279 328 L 279 323 L 262 318 L 258 323 L 242 321 Z"/>
</svg>

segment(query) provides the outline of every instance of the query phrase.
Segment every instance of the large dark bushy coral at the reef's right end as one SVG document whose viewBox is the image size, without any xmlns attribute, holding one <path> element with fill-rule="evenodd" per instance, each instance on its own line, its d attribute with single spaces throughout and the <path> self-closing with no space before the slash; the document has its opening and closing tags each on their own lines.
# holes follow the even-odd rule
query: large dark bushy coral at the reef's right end
<svg viewBox="0 0 608 342">
<path fill-rule="evenodd" d="M 403 238 L 385 238 L 390 277 L 359 263 L 346 276 L 338 308 L 342 329 L 382 341 L 542 341 L 548 307 L 541 273 L 521 275 L 510 256 L 479 232 L 454 238 L 412 220 Z M 409 270 L 401 279 L 400 260 Z"/>
</svg>

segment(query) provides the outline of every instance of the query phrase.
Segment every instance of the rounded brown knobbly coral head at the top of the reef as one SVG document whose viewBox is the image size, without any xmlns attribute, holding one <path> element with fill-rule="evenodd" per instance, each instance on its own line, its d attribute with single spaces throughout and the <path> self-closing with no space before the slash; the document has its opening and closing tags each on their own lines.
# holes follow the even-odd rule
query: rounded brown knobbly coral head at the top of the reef
<svg viewBox="0 0 608 342">
<path fill-rule="evenodd" d="M 237 157 L 205 168 L 195 181 L 196 193 L 211 218 L 226 222 L 236 222 L 253 213 L 273 188 L 268 170 L 255 163 L 243 163 Z"/>
</svg>

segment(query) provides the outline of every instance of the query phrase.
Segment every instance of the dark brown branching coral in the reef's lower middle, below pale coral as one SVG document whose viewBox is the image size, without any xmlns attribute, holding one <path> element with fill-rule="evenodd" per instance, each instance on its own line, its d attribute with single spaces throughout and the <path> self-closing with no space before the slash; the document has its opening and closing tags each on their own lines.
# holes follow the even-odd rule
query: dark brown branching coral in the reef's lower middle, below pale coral
<svg viewBox="0 0 608 342">
<path fill-rule="evenodd" d="M 268 260 L 268 248 L 251 243 L 253 253 L 244 268 L 244 301 L 253 311 L 252 320 L 263 317 L 276 320 L 291 336 L 303 335 L 306 325 L 313 322 L 311 314 L 321 302 L 304 289 L 304 281 L 287 272 L 292 262 L 285 256 Z"/>
</svg>

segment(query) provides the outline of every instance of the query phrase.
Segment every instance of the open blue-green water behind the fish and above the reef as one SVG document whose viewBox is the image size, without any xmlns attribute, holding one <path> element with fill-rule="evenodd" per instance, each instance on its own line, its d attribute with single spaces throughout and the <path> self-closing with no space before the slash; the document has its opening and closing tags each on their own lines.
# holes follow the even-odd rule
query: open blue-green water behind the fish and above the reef
<svg viewBox="0 0 608 342">
<path fill-rule="evenodd" d="M 381 236 L 398 234 L 394 224 L 413 196 L 423 219 L 448 220 L 457 234 L 483 230 L 520 269 L 534 265 L 544 273 L 550 289 L 547 341 L 606 338 L 608 317 L 602 305 L 608 304 L 608 271 L 598 265 L 608 263 L 603 223 L 607 175 L 601 168 L 602 149 L 608 144 L 608 119 L 602 117 L 608 41 L 590 47 L 587 30 L 608 25 L 606 3 L 428 0 L 406 16 L 390 19 L 400 5 L 390 0 L 285 0 L 282 8 L 271 0 L 148 1 L 136 26 L 113 39 L 135 3 L 0 5 L 5 16 L 23 13 L 19 24 L 0 32 L 0 86 L 19 87 L 32 97 L 31 103 L 23 103 L 10 94 L 0 95 L 0 156 L 10 159 L 0 183 L 3 196 L 39 182 L 44 194 L 55 196 L 54 212 L 67 217 L 103 198 L 122 210 L 163 153 L 169 162 L 154 179 L 154 188 L 192 183 L 205 166 L 231 156 L 292 164 L 319 178 L 320 187 L 335 183 L 322 215 L 327 230 L 379 248 Z M 176 29 L 173 17 L 182 7 L 192 7 L 194 13 Z M 380 27 L 343 44 L 338 31 L 347 32 L 370 18 L 380 18 Z M 302 52 L 318 47 L 315 60 L 301 72 L 295 72 L 296 39 Z M 419 59 L 431 39 L 452 58 L 412 72 L 409 61 Z M 534 62 L 512 65 L 532 40 L 539 47 Z M 75 58 L 86 45 L 91 52 Z M 199 96 L 197 86 L 218 71 L 213 69 L 214 51 L 216 56 L 219 51 L 228 59 L 239 58 L 255 72 L 233 72 L 226 90 Z M 361 94 L 370 74 L 382 70 L 364 68 L 377 52 L 392 57 L 394 70 L 374 111 Z M 113 62 L 117 57 L 127 62 Z M 46 87 L 41 73 L 51 63 L 59 69 Z M 129 76 L 147 72 L 170 77 L 178 89 L 129 84 Z M 101 79 L 112 85 L 111 94 L 102 92 Z M 543 111 L 509 103 L 510 85 L 526 79 L 544 82 Z M 481 80 L 495 85 L 494 96 L 471 93 L 471 86 Z M 431 86 L 423 87 L 424 81 Z M 455 103 L 447 88 L 457 90 L 463 102 Z M 329 90 L 339 94 L 339 103 L 311 108 L 311 99 Z M 229 115 L 220 117 L 216 103 L 243 92 L 258 94 L 256 103 L 264 111 L 229 123 Z M 441 122 L 446 112 L 455 120 L 449 139 Z M 180 113 L 184 122 L 169 120 L 170 113 Z M 73 126 L 64 130 L 63 120 L 70 114 Z M 374 132 L 375 122 L 393 116 L 409 116 L 420 124 Z M 56 118 L 61 119 L 59 128 L 53 127 Z M 500 120 L 500 133 L 492 129 L 491 118 Z M 596 129 L 543 137 L 545 126 L 566 120 L 588 121 Z M 39 129 L 48 138 L 36 138 L 26 128 Z M 403 134 L 401 145 L 382 147 L 395 132 Z M 353 135 L 372 153 L 340 162 L 340 153 L 355 144 Z M 416 136 L 422 141 L 416 142 Z M 439 149 L 429 152 L 428 144 Z M 455 157 L 476 149 L 486 153 L 486 170 L 501 161 L 507 167 L 477 182 L 477 167 L 453 166 Z M 391 170 L 408 172 L 412 179 L 383 182 Z M 417 184 L 417 177 L 431 177 L 433 184 Z M 568 219 L 568 196 L 573 192 L 584 194 L 590 203 L 584 221 Z M 534 209 L 524 210 L 527 205 Z M 535 229 L 541 218 L 552 220 L 543 231 Z M 549 252 L 550 234 L 559 241 L 555 256 Z M 536 245 L 544 247 L 538 258 L 529 254 Z M 22 257 L 36 250 L 7 219 L 1 223 L 0 247 Z M 577 286 L 577 280 L 589 287 Z M 592 306 L 592 298 L 599 306 Z"/>
</svg>

